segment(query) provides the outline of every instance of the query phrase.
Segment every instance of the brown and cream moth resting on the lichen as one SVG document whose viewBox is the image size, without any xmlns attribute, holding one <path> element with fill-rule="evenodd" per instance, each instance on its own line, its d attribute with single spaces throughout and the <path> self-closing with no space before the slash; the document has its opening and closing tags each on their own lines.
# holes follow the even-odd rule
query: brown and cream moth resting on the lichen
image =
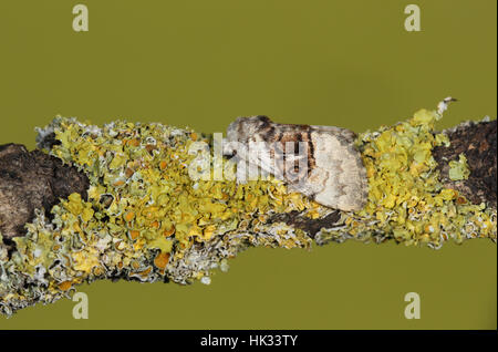
<svg viewBox="0 0 498 352">
<path fill-rule="evenodd" d="M 354 132 L 341 127 L 278 124 L 261 115 L 239 117 L 227 128 L 224 154 L 274 175 L 289 191 L 352 211 L 363 208 L 369 195 L 354 138 Z"/>
</svg>

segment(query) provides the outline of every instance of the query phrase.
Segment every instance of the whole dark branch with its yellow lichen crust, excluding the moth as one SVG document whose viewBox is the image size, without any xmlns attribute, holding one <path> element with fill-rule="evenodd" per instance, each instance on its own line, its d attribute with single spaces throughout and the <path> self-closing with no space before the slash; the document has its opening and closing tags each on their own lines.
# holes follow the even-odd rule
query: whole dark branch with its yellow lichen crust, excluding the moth
<svg viewBox="0 0 498 352">
<path fill-rule="evenodd" d="M 437 133 L 438 118 L 421 110 L 357 136 L 369 201 L 353 213 L 272 177 L 214 177 L 216 164 L 227 173 L 235 164 L 212 155 L 209 135 L 56 117 L 39 130 L 44 152 L 0 148 L 0 311 L 53 302 L 96 279 L 209 283 L 250 246 L 496 240 L 496 121 Z M 201 153 L 209 177 L 195 179 Z"/>
</svg>

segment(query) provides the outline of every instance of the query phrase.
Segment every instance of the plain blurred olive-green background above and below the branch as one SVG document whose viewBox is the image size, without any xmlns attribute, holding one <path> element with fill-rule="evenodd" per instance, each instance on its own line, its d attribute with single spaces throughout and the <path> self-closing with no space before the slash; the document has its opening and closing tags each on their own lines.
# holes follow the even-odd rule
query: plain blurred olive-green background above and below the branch
<svg viewBox="0 0 498 352">
<path fill-rule="evenodd" d="M 90 31 L 72 30 L 84 3 Z M 406 32 L 404 8 L 422 10 Z M 0 144 L 34 147 L 53 116 L 222 132 L 237 116 L 361 132 L 447 95 L 440 122 L 496 118 L 497 3 L 479 1 L 0 2 Z M 256 248 L 210 286 L 94 282 L 90 319 L 62 300 L 0 329 L 496 329 L 497 247 L 345 242 Z M 422 319 L 404 318 L 417 292 Z"/>
</svg>

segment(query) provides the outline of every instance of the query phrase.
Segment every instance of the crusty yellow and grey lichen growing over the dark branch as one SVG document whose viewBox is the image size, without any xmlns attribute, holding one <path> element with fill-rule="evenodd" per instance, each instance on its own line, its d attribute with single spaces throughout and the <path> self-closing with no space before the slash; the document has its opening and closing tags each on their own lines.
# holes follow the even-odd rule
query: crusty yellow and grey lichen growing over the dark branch
<svg viewBox="0 0 498 352">
<path fill-rule="evenodd" d="M 450 238 L 496 239 L 496 209 L 471 205 L 438 180 L 430 151 L 448 143 L 434 132 L 438 117 L 422 110 L 359 136 L 369 203 L 322 228 L 319 245 L 392 238 L 439 248 Z M 45 144 L 53 133 L 60 144 Z M 89 199 L 72 194 L 51 209 L 52 220 L 37 211 L 10 259 L 0 248 L 0 311 L 7 314 L 96 279 L 209 283 L 214 269 L 226 271 L 227 259 L 247 247 L 310 248 L 303 230 L 268 221 L 272 215 L 320 219 L 334 211 L 289 194 L 271 177 L 247 184 L 193 179 L 190 146 L 210 139 L 189 128 L 125 121 L 98 127 L 56 117 L 37 141 L 89 176 Z"/>
</svg>

